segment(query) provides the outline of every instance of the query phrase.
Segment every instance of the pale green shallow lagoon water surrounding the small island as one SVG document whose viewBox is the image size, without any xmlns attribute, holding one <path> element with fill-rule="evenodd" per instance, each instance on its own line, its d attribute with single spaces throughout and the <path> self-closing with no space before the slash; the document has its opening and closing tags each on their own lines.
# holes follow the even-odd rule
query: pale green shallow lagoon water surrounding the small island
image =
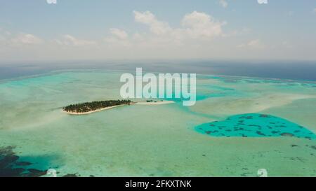
<svg viewBox="0 0 316 191">
<path fill-rule="evenodd" d="M 68 104 L 117 99 L 120 75 L 60 71 L 0 83 L 0 147 L 11 146 L 18 157 L 6 169 L 28 162 L 18 164 L 28 164 L 24 171 L 37 169 L 34 176 L 48 168 L 58 176 L 257 176 L 261 168 L 268 176 L 316 176 L 315 139 L 206 136 L 195 129 L 264 113 L 315 134 L 315 83 L 198 76 L 195 106 L 126 106 L 84 116 L 61 112 Z"/>
</svg>

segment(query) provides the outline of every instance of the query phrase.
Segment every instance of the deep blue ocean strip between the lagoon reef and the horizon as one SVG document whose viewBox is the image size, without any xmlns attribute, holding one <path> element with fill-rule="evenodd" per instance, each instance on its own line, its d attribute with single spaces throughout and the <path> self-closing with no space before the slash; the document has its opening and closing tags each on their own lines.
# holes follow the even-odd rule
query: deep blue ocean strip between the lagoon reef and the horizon
<svg viewBox="0 0 316 191">
<path fill-rule="evenodd" d="M 232 61 L 107 61 L 2 63 L 0 80 L 31 76 L 64 69 L 111 69 L 143 72 L 200 73 L 316 81 L 316 62 L 232 62 Z"/>
</svg>

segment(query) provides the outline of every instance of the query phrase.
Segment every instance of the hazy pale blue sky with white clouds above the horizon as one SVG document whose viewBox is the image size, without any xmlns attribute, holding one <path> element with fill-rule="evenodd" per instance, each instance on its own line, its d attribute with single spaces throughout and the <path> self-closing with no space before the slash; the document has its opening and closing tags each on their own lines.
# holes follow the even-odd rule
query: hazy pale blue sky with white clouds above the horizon
<svg viewBox="0 0 316 191">
<path fill-rule="evenodd" d="M 56 1 L 0 0 L 0 62 L 316 60 L 316 0 Z"/>
</svg>

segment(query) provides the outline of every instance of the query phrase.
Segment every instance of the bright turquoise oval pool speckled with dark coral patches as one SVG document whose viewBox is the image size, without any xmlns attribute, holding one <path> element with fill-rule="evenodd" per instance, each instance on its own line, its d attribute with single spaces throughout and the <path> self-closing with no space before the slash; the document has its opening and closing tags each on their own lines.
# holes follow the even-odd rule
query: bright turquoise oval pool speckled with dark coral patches
<svg viewBox="0 0 316 191">
<path fill-rule="evenodd" d="M 248 113 L 234 115 L 224 121 L 209 122 L 195 127 L 197 132 L 210 136 L 271 137 L 295 136 L 316 139 L 310 130 L 272 115 Z"/>
</svg>

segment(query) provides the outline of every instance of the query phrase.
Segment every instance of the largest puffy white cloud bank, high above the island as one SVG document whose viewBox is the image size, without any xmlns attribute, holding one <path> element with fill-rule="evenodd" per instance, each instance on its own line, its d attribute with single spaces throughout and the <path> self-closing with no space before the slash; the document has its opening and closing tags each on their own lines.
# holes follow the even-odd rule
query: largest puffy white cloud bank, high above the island
<svg viewBox="0 0 316 191">
<path fill-rule="evenodd" d="M 179 45 L 193 45 L 209 41 L 218 36 L 224 36 L 222 26 L 225 22 L 218 22 L 211 15 L 193 11 L 183 17 L 178 28 L 171 27 L 168 22 L 158 20 L 150 11 L 133 11 L 136 22 L 149 27 L 150 33 L 131 34 L 112 28 L 110 36 L 105 42 L 110 46 L 133 46 L 136 48 L 171 48 Z"/>
</svg>

